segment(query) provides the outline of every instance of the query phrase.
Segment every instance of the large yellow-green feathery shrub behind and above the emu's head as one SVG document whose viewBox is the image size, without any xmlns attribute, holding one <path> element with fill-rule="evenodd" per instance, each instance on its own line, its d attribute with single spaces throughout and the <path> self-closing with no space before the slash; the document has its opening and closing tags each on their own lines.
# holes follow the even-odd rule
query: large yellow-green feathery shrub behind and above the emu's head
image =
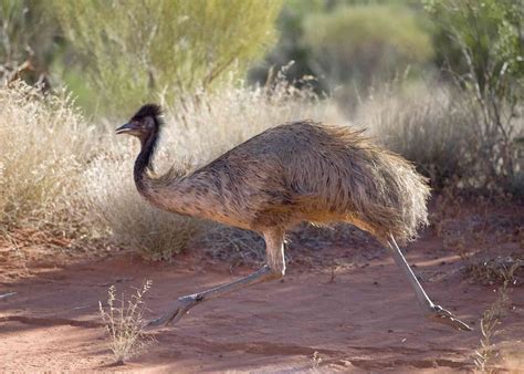
<svg viewBox="0 0 524 374">
<path fill-rule="evenodd" d="M 85 80 L 105 110 L 126 113 L 174 91 L 209 87 L 274 40 L 282 1 L 53 0 Z"/>
</svg>

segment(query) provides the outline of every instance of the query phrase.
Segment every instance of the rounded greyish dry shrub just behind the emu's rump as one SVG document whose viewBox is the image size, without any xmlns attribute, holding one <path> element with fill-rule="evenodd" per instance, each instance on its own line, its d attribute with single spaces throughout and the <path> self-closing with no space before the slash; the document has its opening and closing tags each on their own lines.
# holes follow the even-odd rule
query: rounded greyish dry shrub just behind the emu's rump
<svg viewBox="0 0 524 374">
<path fill-rule="evenodd" d="M 366 124 L 390 149 L 415 162 L 443 187 L 468 175 L 475 155 L 474 116 L 443 86 L 388 86 L 360 107 L 357 122 Z"/>
</svg>

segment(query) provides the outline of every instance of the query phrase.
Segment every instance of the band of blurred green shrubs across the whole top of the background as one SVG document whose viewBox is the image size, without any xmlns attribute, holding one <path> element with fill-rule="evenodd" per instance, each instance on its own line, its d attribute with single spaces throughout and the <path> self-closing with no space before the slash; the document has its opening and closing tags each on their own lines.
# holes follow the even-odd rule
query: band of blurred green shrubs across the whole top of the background
<svg viewBox="0 0 524 374">
<path fill-rule="evenodd" d="M 481 95 L 496 83 L 492 94 L 520 100 L 523 9 L 522 0 L 0 0 L 1 74 L 65 85 L 98 115 L 231 75 L 264 84 L 291 61 L 290 82 L 314 76 L 318 93 L 348 108 L 384 83 L 434 76 L 478 84 Z"/>
</svg>

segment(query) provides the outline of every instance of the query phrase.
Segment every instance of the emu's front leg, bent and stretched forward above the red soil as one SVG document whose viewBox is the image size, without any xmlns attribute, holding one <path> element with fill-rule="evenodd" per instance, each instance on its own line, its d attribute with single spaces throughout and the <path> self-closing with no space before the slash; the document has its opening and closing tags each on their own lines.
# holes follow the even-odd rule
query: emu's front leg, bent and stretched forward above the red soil
<svg viewBox="0 0 524 374">
<path fill-rule="evenodd" d="M 268 257 L 268 264 L 259 271 L 231 283 L 214 287 L 210 290 L 188 294 L 179 298 L 175 305 L 165 315 L 149 321 L 147 326 L 158 326 L 161 324 L 172 324 L 178 322 L 191 308 L 212 299 L 220 298 L 227 293 L 240 290 L 244 287 L 266 282 L 270 280 L 284 277 L 285 261 L 284 261 L 284 232 L 272 231 L 264 233 L 265 252 Z"/>
</svg>

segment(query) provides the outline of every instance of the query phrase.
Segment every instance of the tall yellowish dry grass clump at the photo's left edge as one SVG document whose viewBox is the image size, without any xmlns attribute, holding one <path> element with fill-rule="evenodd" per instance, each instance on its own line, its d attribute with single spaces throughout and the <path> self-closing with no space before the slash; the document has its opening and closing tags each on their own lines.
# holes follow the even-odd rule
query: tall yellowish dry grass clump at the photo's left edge
<svg viewBox="0 0 524 374">
<path fill-rule="evenodd" d="M 82 220 L 78 176 L 91 127 L 65 94 L 0 87 L 0 225 L 71 233 Z"/>
</svg>

